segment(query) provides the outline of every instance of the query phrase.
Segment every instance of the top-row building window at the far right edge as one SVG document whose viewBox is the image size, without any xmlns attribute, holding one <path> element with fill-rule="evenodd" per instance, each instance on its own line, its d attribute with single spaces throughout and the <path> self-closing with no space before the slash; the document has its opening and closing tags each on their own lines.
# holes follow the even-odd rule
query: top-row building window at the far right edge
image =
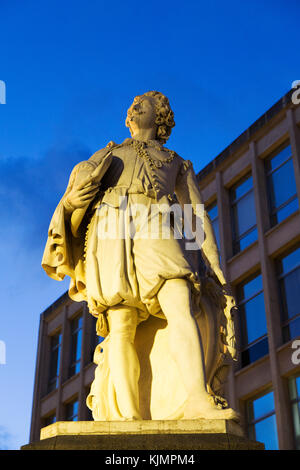
<svg viewBox="0 0 300 470">
<path fill-rule="evenodd" d="M 271 226 L 298 209 L 296 182 L 290 145 L 284 145 L 265 160 Z"/>
</svg>

